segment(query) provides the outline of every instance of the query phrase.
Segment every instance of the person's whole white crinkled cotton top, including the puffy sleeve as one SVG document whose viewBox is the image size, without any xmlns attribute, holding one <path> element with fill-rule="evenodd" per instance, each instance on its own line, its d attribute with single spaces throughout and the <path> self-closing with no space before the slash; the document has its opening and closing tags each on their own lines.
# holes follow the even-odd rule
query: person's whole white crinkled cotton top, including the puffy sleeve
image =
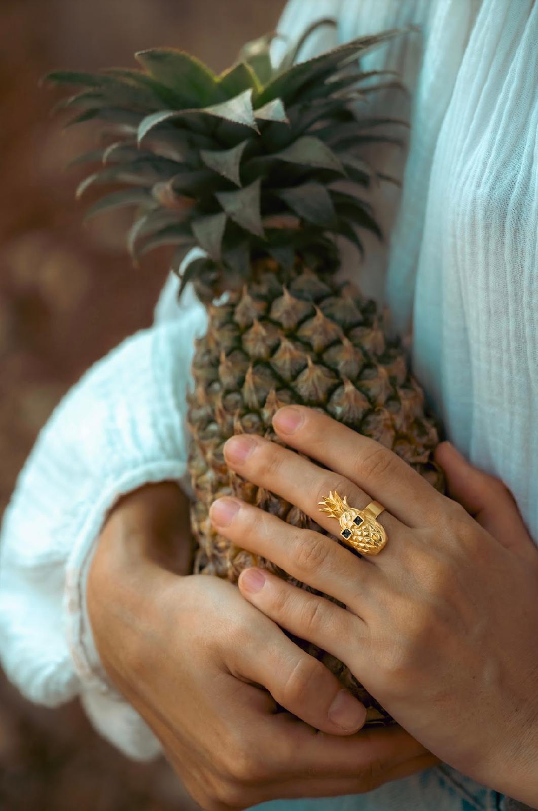
<svg viewBox="0 0 538 811">
<path fill-rule="evenodd" d="M 403 176 L 377 206 L 390 239 L 366 239 L 350 277 L 412 328 L 415 375 L 447 436 L 502 478 L 538 539 L 538 3 L 533 0 L 292 0 L 280 30 L 300 54 L 413 23 L 364 67 L 400 71 L 410 148 L 386 151 Z M 274 44 L 278 55 L 278 42 Z M 372 97 L 373 99 L 373 97 Z M 372 101 L 402 113 L 403 97 Z M 403 105 L 403 106 L 402 106 Z M 378 153 L 379 155 L 381 153 Z M 105 514 L 145 482 L 183 478 L 185 393 L 205 314 L 170 276 L 155 324 L 123 341 L 71 389 L 42 429 L 7 508 L 0 545 L 0 656 L 32 701 L 80 695 L 103 735 L 132 757 L 159 744 L 107 683 L 84 610 L 84 575 Z"/>
</svg>

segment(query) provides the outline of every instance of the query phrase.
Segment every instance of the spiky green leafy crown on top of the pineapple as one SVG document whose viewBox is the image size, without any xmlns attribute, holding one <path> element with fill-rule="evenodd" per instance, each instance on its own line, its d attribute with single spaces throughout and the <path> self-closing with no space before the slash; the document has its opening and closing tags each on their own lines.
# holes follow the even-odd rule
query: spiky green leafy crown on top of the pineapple
<svg viewBox="0 0 538 811">
<path fill-rule="evenodd" d="M 221 75 L 183 51 L 162 48 L 136 54 L 138 70 L 45 76 L 83 88 L 55 108 L 78 111 L 67 127 L 102 125 L 100 148 L 74 161 L 101 167 L 76 194 L 97 185 L 118 189 L 97 200 L 86 219 L 135 206 L 127 236 L 135 263 L 153 248 L 173 245 L 172 267 L 179 272 L 189 248 L 200 246 L 205 256 L 187 265 L 181 289 L 192 279 L 205 298 L 250 281 L 260 256 L 291 271 L 303 255 L 318 272 L 332 272 L 336 237 L 361 253 L 358 229 L 381 238 L 364 195 L 385 175 L 360 151 L 377 141 L 401 143 L 377 127 L 405 122 L 361 117 L 351 103 L 381 88 L 402 88 L 392 71 L 358 67 L 368 50 L 399 32 L 364 36 L 296 63 L 322 25 L 334 20 L 308 28 L 276 66 L 269 49 L 277 35 L 270 34 L 245 45 Z M 362 194 L 350 194 L 350 182 Z"/>
</svg>

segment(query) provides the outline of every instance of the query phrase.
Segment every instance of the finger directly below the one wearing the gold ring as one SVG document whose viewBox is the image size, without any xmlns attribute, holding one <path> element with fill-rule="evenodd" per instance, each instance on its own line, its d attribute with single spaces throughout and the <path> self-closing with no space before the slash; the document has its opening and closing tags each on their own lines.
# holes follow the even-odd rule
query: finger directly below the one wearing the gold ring
<svg viewBox="0 0 538 811">
<path fill-rule="evenodd" d="M 359 615 L 365 595 L 375 588 L 372 580 L 377 577 L 377 569 L 327 535 L 301 530 L 265 510 L 228 497 L 213 502 L 210 517 L 218 532 L 235 546 L 271 560 L 292 577 L 336 597 Z"/>
</svg>

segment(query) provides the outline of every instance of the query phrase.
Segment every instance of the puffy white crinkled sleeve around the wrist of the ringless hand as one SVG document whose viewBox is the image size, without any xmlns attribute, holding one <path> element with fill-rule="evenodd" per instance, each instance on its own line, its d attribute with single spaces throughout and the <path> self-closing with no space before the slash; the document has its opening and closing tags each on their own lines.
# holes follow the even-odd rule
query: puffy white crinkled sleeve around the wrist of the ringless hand
<svg viewBox="0 0 538 811">
<path fill-rule="evenodd" d="M 0 534 L 0 659 L 33 702 L 80 695 L 131 757 L 159 751 L 108 684 L 85 611 L 85 573 L 106 513 L 144 483 L 185 481 L 185 394 L 200 305 L 127 338 L 62 399 L 19 474 Z"/>
</svg>

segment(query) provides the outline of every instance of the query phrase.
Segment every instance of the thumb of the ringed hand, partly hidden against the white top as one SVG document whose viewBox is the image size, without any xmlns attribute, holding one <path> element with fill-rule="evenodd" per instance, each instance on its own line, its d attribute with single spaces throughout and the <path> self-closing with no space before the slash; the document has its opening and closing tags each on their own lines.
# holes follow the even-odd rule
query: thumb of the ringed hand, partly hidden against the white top
<svg viewBox="0 0 538 811">
<path fill-rule="evenodd" d="M 518 505 L 501 479 L 472 466 L 450 442 L 438 445 L 435 461 L 445 471 L 450 498 L 458 501 L 504 547 L 527 559 L 529 555 L 536 559 L 538 553 Z"/>
</svg>

